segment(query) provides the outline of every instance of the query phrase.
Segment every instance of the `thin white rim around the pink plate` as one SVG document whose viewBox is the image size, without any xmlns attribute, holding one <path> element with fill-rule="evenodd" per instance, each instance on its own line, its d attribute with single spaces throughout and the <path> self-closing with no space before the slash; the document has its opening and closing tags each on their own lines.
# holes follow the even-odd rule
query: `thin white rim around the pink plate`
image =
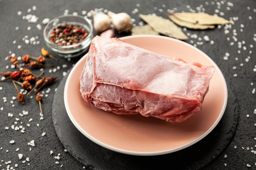
<svg viewBox="0 0 256 170">
<path fill-rule="evenodd" d="M 218 119 L 216 119 L 216 121 L 214 122 L 214 124 L 205 132 L 203 133 L 201 136 L 199 136 L 198 138 L 194 139 L 193 141 L 187 143 L 187 144 L 183 144 L 182 146 L 173 148 L 173 149 L 168 149 L 165 151 L 158 151 L 158 152 L 133 152 L 133 151 L 127 151 L 127 150 L 123 150 L 123 149 L 119 149 L 113 146 L 110 146 L 108 144 L 104 144 L 101 141 L 95 139 L 94 137 L 92 137 L 91 135 L 89 135 L 84 129 L 82 129 L 82 127 L 79 126 L 79 124 L 75 121 L 75 119 L 72 116 L 72 113 L 69 109 L 68 103 L 67 103 L 67 86 L 68 86 L 68 82 L 70 80 L 70 77 L 73 73 L 73 71 L 75 70 L 75 68 L 79 65 L 80 62 L 82 62 L 82 60 L 87 56 L 87 54 L 85 54 L 81 59 L 79 59 L 79 61 L 75 64 L 75 66 L 72 68 L 72 70 L 70 71 L 67 80 L 65 82 L 65 87 L 64 87 L 64 105 L 65 105 L 65 109 L 67 111 L 68 117 L 71 119 L 73 125 L 87 138 L 89 138 L 91 141 L 93 141 L 96 144 L 101 145 L 104 148 L 107 148 L 111 151 L 115 151 L 118 153 L 124 153 L 124 154 L 129 154 L 129 155 L 137 155 L 137 156 L 154 156 L 154 155 L 162 155 L 162 154 L 167 154 L 167 153 L 173 153 L 176 151 L 180 151 L 184 148 L 187 148 L 189 146 L 191 146 L 192 144 L 195 144 L 197 142 L 199 142 L 202 138 L 204 138 L 205 136 L 207 136 L 219 123 L 220 119 L 222 118 L 226 106 L 227 106 L 227 102 L 228 102 L 228 88 L 227 88 L 227 83 L 225 81 L 225 78 L 221 72 L 221 70 L 219 69 L 219 67 L 217 66 L 217 64 L 208 56 L 206 55 L 204 52 L 202 52 L 201 50 L 195 48 L 194 46 L 192 46 L 191 44 L 187 43 L 187 42 L 183 42 L 174 38 L 170 38 L 170 37 L 165 37 L 165 36 L 159 36 L 159 35 L 130 35 L 130 36 L 125 36 L 120 38 L 121 40 L 125 40 L 125 39 L 129 39 L 129 38 L 133 38 L 133 37 L 157 37 L 157 38 L 164 38 L 164 39 L 169 39 L 171 41 L 175 41 L 175 42 L 179 42 L 179 43 L 183 43 L 183 45 L 189 46 L 191 48 L 193 48 L 196 51 L 199 51 L 204 57 L 206 57 L 207 59 L 210 60 L 210 62 L 214 65 L 214 67 L 216 68 L 216 71 L 218 71 L 220 73 L 221 79 L 224 83 L 224 88 L 225 88 L 225 99 L 224 99 L 224 105 L 222 107 L 222 110 L 219 114 Z"/>
</svg>

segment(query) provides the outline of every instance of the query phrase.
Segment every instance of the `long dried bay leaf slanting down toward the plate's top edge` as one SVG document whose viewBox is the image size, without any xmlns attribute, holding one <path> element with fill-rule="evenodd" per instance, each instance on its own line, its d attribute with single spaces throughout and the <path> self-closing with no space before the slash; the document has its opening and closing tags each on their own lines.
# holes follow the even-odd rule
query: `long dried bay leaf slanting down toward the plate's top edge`
<svg viewBox="0 0 256 170">
<path fill-rule="evenodd" d="M 142 15 L 139 17 L 150 25 L 156 32 L 164 34 L 180 40 L 187 40 L 188 37 L 169 19 L 158 16 Z"/>
</svg>

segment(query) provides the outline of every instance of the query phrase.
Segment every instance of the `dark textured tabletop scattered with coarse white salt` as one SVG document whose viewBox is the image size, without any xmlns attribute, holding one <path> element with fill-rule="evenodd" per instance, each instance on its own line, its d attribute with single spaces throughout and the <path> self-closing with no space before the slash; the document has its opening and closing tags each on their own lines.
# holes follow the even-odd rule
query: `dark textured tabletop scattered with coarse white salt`
<svg viewBox="0 0 256 170">
<path fill-rule="evenodd" d="M 222 26 L 205 31 L 183 29 L 185 34 L 190 34 L 189 40 L 185 42 L 196 44 L 197 48 L 209 55 L 221 69 L 226 78 L 229 95 L 234 99 L 229 102 L 229 108 L 231 105 L 237 105 L 237 110 L 234 111 L 237 111 L 239 115 L 235 133 L 227 147 L 202 169 L 256 168 L 256 97 L 255 90 L 253 90 L 256 85 L 256 2 L 254 0 L 211 0 L 207 2 L 205 0 L 2 0 L 0 1 L 0 37 L 2 40 L 0 42 L 0 72 L 14 70 L 11 68 L 10 61 L 5 60 L 11 54 L 17 57 L 24 54 L 40 55 L 41 47 L 46 47 L 43 40 L 42 20 L 44 18 L 53 19 L 63 15 L 66 9 L 69 10 L 69 14 L 77 12 L 82 15 L 83 10 L 88 12 L 94 8 L 108 9 L 113 12 L 125 11 L 135 19 L 136 25 L 143 24 L 138 17 L 140 13 L 155 13 L 167 18 L 166 14 L 169 11 L 188 12 L 190 8 L 195 11 L 205 10 L 210 14 L 217 13 L 219 16 L 224 15 L 222 17 L 226 19 L 232 17 L 234 25 L 231 28 Z M 21 11 L 21 15 L 18 15 L 20 14 L 18 11 Z M 32 22 L 27 20 L 29 14 L 32 15 L 30 16 Z M 38 29 L 40 28 L 38 24 L 42 27 L 41 30 Z M 116 34 L 117 37 L 126 35 L 128 34 Z M 206 42 L 203 39 L 204 35 L 208 35 L 213 42 Z M 30 40 L 29 44 L 26 44 L 25 39 Z M 50 52 L 55 55 L 54 52 Z M 228 60 L 223 59 L 225 55 L 229 56 Z M 47 63 L 54 64 L 55 67 L 44 68 L 45 75 L 58 76 L 58 79 L 41 91 L 41 93 L 44 92 L 42 103 L 44 116 L 42 118 L 39 115 L 39 105 L 35 96 L 33 98 L 25 96 L 26 104 L 21 105 L 13 99 L 13 96 L 17 95 L 13 84 L 10 81 L 0 82 L 0 169 L 74 170 L 97 167 L 97 165 L 83 165 L 70 153 L 65 152 L 64 146 L 56 135 L 52 119 L 55 89 L 63 83 L 61 82 L 63 75 L 72 68 L 79 57 L 71 60 L 58 58 L 57 62 L 46 59 Z M 33 72 L 39 74 L 41 71 L 34 69 Z M 208 147 L 213 147 L 215 143 L 218 143 L 218 138 L 211 141 Z M 19 159 L 20 154 L 22 154 L 21 159 Z M 192 155 L 192 153 L 189 154 Z M 104 159 L 102 155 L 99 157 Z M 111 169 L 111 164 L 106 166 Z M 171 167 L 172 164 L 169 169 Z M 175 167 L 178 166 L 175 165 Z"/>
</svg>

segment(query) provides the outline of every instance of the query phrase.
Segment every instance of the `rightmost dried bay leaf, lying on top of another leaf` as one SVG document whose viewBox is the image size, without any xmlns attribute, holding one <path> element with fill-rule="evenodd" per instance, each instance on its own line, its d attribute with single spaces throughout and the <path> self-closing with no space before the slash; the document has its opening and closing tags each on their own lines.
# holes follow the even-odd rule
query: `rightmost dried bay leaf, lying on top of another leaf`
<svg viewBox="0 0 256 170">
<path fill-rule="evenodd" d="M 193 24 L 201 25 L 225 25 L 230 22 L 222 17 L 209 15 L 207 13 L 192 13 L 192 12 L 180 12 L 173 13 L 173 15 L 180 20 L 191 22 Z"/>
</svg>

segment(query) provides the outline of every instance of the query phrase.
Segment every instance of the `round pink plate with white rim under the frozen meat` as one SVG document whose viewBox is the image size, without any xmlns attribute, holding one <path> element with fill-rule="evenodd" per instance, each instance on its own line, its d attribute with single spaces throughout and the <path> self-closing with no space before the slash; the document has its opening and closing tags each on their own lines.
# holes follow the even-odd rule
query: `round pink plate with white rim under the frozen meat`
<svg viewBox="0 0 256 170">
<path fill-rule="evenodd" d="M 165 36 L 136 35 L 123 41 L 186 62 L 213 65 L 216 70 L 202 110 L 182 123 L 170 123 L 141 115 L 117 115 L 97 109 L 82 99 L 79 76 L 86 55 L 71 70 L 64 89 L 67 114 L 75 127 L 91 141 L 119 153 L 160 155 L 184 149 L 203 137 L 219 123 L 228 100 L 228 90 L 219 67 L 192 45 Z"/>
</svg>

